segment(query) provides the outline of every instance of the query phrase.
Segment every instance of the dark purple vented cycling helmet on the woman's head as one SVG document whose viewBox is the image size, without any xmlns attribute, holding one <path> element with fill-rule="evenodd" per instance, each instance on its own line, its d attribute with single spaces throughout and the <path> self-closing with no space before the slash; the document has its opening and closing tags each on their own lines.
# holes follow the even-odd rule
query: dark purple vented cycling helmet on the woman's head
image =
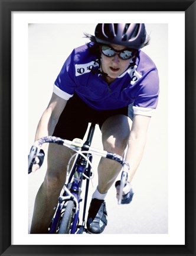
<svg viewBox="0 0 196 256">
<path fill-rule="evenodd" d="M 95 28 L 94 36 L 97 43 L 119 44 L 140 49 L 144 46 L 146 40 L 146 29 L 143 23 L 99 23 Z"/>
</svg>

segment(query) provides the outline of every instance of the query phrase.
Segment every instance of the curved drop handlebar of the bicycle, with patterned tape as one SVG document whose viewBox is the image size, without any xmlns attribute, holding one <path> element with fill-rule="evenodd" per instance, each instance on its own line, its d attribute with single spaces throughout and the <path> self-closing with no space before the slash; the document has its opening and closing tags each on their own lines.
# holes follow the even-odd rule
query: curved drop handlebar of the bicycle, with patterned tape
<svg viewBox="0 0 196 256">
<path fill-rule="evenodd" d="M 104 158 L 108 158 L 113 161 L 119 162 L 119 164 L 121 164 L 123 167 L 121 180 L 120 180 L 120 191 L 119 191 L 119 200 L 118 200 L 118 203 L 119 204 L 121 203 L 123 187 L 126 184 L 126 181 L 128 179 L 128 172 L 129 172 L 129 164 L 122 158 L 122 156 L 117 155 L 116 153 L 111 153 L 104 150 L 93 148 L 92 146 L 88 146 L 85 143 L 83 143 L 83 140 L 81 139 L 74 139 L 73 141 L 71 141 L 71 140 L 61 139 L 60 137 L 46 136 L 46 137 L 41 137 L 40 139 L 35 141 L 34 145 L 32 145 L 31 147 L 30 155 L 28 156 L 28 174 L 31 173 L 32 164 L 34 163 L 35 158 L 38 156 L 41 146 L 44 143 L 55 143 L 58 145 L 67 146 L 68 148 L 73 149 L 74 151 L 80 151 L 81 149 L 84 149 L 84 150 L 87 150 L 89 153 L 93 153 L 95 155 L 99 155 Z"/>
</svg>

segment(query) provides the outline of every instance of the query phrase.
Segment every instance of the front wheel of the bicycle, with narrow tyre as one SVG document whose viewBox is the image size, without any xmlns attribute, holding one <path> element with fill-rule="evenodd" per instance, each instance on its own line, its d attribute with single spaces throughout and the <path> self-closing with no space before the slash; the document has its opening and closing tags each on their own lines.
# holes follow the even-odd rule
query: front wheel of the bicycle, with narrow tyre
<svg viewBox="0 0 196 256">
<path fill-rule="evenodd" d="M 74 217 L 74 202 L 68 201 L 64 215 L 61 219 L 60 227 L 58 233 L 70 233 L 71 223 Z"/>
</svg>

